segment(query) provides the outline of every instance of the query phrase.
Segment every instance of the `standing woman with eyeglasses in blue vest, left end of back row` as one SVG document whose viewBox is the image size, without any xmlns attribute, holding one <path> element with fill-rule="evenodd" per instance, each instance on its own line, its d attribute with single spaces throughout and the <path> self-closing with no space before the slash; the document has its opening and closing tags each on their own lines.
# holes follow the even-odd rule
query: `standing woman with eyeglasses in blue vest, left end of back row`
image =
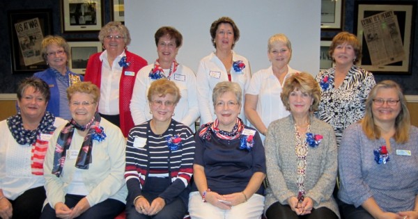
<svg viewBox="0 0 418 219">
<path fill-rule="evenodd" d="M 47 102 L 47 111 L 56 117 L 71 120 L 68 106 L 67 88 L 72 84 L 83 81 L 82 75 L 71 72 L 68 68 L 70 60 L 70 46 L 59 35 L 47 35 L 41 43 L 41 55 L 49 68 L 43 72 L 33 74 L 45 81 L 51 92 L 51 99 Z"/>
</svg>

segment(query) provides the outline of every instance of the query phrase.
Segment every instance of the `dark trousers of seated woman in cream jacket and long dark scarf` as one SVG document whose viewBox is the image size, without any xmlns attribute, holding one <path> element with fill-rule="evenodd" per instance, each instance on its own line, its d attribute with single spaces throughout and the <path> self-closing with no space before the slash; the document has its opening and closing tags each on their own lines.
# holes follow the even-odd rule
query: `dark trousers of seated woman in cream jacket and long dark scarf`
<svg viewBox="0 0 418 219">
<path fill-rule="evenodd" d="M 73 208 L 82 198 L 85 197 L 84 195 L 65 195 L 65 205 L 68 208 Z M 95 218 L 115 218 L 118 216 L 125 209 L 125 204 L 119 202 L 118 200 L 114 200 L 108 198 L 103 202 L 95 204 L 87 211 L 84 211 L 82 215 L 80 215 L 79 219 L 95 219 Z M 42 219 L 55 219 L 57 218 L 55 215 L 55 209 L 52 208 L 50 204 L 45 205 L 44 209 L 42 210 L 42 215 L 40 216 Z"/>
</svg>

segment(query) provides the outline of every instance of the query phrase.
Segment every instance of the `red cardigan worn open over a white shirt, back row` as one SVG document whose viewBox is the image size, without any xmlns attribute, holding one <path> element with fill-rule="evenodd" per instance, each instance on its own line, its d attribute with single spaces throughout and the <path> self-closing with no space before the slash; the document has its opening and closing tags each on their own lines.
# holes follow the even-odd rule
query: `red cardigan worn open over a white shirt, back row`
<svg viewBox="0 0 418 219">
<path fill-rule="evenodd" d="M 100 88 L 102 81 L 102 61 L 100 55 L 102 52 L 93 54 L 88 58 L 86 74 L 84 81 L 91 81 Z M 130 129 L 134 127 L 134 120 L 130 111 L 130 100 L 134 90 L 135 78 L 139 70 L 148 65 L 144 58 L 130 51 L 125 50 L 126 61 L 130 63 L 129 67 L 123 67 L 121 81 L 119 82 L 119 119 L 121 120 L 121 130 L 123 136 L 127 137 Z M 133 72 L 134 75 L 126 75 L 125 72 Z"/>
</svg>

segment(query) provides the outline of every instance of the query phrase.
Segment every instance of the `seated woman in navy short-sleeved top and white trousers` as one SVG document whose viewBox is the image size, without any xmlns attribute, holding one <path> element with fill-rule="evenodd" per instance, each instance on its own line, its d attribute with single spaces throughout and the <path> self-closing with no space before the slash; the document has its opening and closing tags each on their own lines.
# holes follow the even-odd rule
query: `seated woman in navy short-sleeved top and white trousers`
<svg viewBox="0 0 418 219">
<path fill-rule="evenodd" d="M 258 131 L 238 117 L 241 98 L 235 82 L 219 82 L 213 89 L 217 119 L 204 124 L 195 136 L 192 218 L 261 218 L 264 147 Z"/>
</svg>

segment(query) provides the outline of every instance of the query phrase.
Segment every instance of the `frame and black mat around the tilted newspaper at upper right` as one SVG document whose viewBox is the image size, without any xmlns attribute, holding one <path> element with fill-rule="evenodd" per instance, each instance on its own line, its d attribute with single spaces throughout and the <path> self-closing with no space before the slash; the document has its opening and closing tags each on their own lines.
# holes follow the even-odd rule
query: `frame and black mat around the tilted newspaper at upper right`
<svg viewBox="0 0 418 219">
<path fill-rule="evenodd" d="M 362 45 L 362 59 L 359 67 L 373 74 L 411 74 L 412 49 L 415 33 L 415 1 L 355 1 L 355 34 Z M 394 11 L 403 43 L 405 59 L 388 65 L 372 65 L 369 48 L 367 47 L 362 19 L 385 11 Z"/>
</svg>

